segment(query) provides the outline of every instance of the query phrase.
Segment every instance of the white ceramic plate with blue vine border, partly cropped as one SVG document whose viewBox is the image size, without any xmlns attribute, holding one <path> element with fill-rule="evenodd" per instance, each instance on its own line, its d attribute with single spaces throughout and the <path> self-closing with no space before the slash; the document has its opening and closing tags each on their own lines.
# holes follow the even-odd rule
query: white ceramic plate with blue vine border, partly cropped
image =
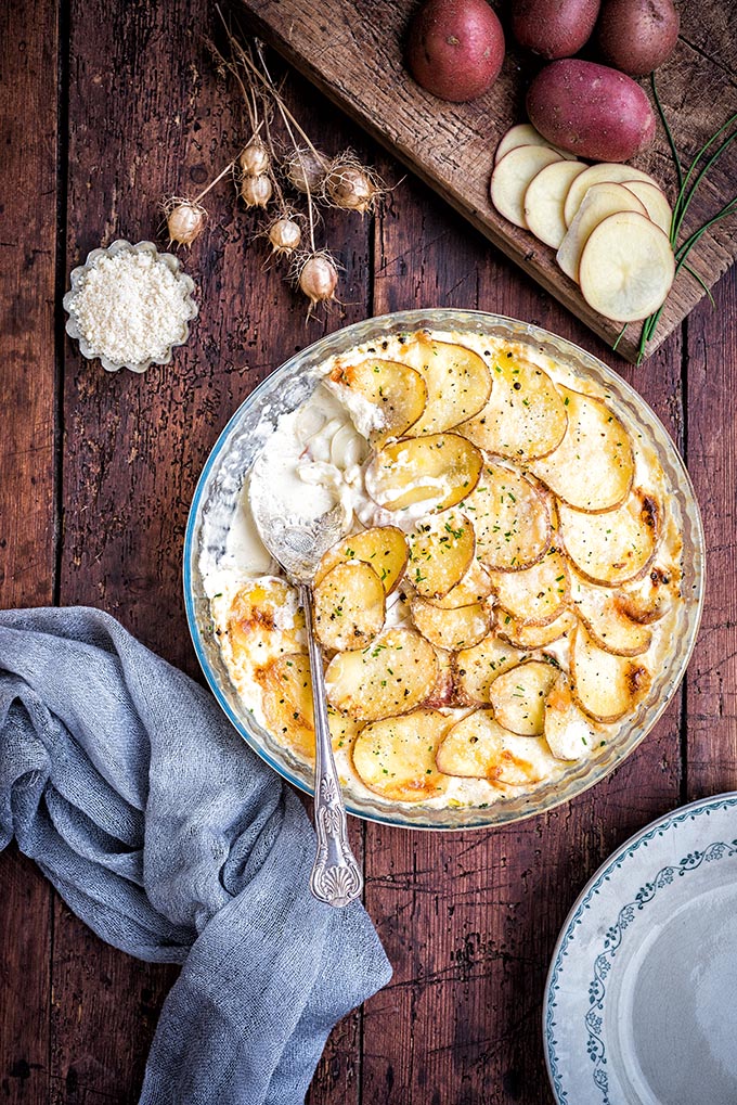
<svg viewBox="0 0 737 1105">
<path fill-rule="evenodd" d="M 558 938 L 543 1032 L 558 1105 L 737 1103 L 737 793 L 599 869 Z"/>
</svg>

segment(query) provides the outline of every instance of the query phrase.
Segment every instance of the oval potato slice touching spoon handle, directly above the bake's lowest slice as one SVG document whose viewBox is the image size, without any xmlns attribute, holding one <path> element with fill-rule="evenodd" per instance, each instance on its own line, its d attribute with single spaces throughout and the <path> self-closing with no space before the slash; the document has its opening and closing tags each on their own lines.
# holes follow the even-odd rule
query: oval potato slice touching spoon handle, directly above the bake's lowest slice
<svg viewBox="0 0 737 1105">
<path fill-rule="evenodd" d="M 325 673 L 330 705 L 365 722 L 409 713 L 436 680 L 433 646 L 409 629 L 390 629 L 366 649 L 339 652 Z"/>
</svg>

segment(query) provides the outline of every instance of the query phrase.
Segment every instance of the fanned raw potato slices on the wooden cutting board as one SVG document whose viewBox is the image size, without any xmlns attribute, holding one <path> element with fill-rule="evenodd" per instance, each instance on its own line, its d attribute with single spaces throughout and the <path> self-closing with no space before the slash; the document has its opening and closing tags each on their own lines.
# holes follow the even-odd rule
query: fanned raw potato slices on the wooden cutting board
<svg viewBox="0 0 737 1105">
<path fill-rule="evenodd" d="M 499 214 L 556 250 L 587 303 L 614 322 L 646 318 L 675 275 L 671 206 L 631 165 L 587 165 L 551 146 L 528 124 L 502 138 L 491 182 Z"/>
</svg>

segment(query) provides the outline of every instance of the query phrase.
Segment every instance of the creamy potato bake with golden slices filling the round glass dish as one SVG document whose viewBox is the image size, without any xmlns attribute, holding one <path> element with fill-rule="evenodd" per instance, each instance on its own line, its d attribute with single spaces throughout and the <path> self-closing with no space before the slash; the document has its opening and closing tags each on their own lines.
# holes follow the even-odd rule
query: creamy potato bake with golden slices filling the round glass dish
<svg viewBox="0 0 737 1105">
<path fill-rule="evenodd" d="M 322 366 L 246 475 L 203 572 L 230 678 L 275 743 L 314 757 L 296 594 L 249 512 L 336 503 L 314 581 L 344 785 L 485 806 L 555 780 L 634 717 L 681 600 L 672 488 L 589 379 L 498 337 L 419 332 Z"/>
</svg>

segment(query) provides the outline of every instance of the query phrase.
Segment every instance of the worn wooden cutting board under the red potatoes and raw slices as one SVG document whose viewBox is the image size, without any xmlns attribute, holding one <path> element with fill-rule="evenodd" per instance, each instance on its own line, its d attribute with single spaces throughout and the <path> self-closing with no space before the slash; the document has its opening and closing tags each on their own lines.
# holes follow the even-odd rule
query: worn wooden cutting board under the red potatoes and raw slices
<svg viewBox="0 0 737 1105">
<path fill-rule="evenodd" d="M 448 200 L 494 246 L 610 345 L 621 326 L 593 312 L 578 286 L 555 262 L 555 252 L 513 227 L 491 206 L 488 185 L 494 149 L 504 131 L 526 120 L 525 90 L 539 67 L 517 51 L 507 33 L 507 55 L 498 80 L 482 98 L 449 104 L 423 92 L 404 72 L 402 46 L 414 0 L 243 0 L 251 29 L 431 188 Z M 657 86 L 682 162 L 737 110 L 737 4 L 722 0 L 681 4 L 682 33 L 674 56 L 657 74 Z M 649 81 L 642 82 L 650 91 Z M 651 94 L 652 95 L 652 94 Z M 635 162 L 675 199 L 676 176 L 662 127 L 656 144 Z M 694 199 L 687 233 L 701 227 L 737 192 L 737 149 L 729 149 Z M 737 256 L 737 217 L 705 234 L 691 266 L 710 287 Z M 668 296 L 646 354 L 675 329 L 705 296 L 683 271 Z M 494 304 L 486 305 L 488 309 Z M 618 351 L 634 361 L 641 325 L 631 324 Z"/>
</svg>

